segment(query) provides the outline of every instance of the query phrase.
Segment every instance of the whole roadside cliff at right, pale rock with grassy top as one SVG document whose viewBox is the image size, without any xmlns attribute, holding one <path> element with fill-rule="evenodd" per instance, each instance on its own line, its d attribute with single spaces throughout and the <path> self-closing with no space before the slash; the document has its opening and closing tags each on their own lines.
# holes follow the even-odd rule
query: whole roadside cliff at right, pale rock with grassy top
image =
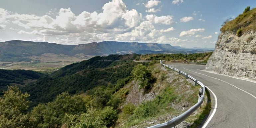
<svg viewBox="0 0 256 128">
<path fill-rule="evenodd" d="M 226 22 L 207 63 L 207 69 L 231 76 L 256 79 L 256 9 L 245 9 Z"/>
</svg>

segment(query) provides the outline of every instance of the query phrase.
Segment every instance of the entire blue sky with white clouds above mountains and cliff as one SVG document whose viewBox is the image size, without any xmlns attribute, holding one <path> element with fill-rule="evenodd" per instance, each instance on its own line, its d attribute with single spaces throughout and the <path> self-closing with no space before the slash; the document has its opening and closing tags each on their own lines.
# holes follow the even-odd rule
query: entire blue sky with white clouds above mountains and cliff
<svg viewBox="0 0 256 128">
<path fill-rule="evenodd" d="M 221 24 L 256 0 L 1 0 L 0 42 L 215 46 Z"/>
</svg>

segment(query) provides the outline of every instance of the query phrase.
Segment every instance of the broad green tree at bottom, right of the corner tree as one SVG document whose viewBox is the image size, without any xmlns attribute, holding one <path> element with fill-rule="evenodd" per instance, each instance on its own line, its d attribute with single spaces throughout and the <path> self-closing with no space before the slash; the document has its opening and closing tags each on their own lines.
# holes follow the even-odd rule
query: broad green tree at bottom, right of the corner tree
<svg viewBox="0 0 256 128">
<path fill-rule="evenodd" d="M 80 96 L 62 93 L 46 105 L 38 105 L 31 111 L 30 122 L 34 127 L 60 127 L 67 122 L 66 115 L 86 112 L 85 102 Z"/>
</svg>

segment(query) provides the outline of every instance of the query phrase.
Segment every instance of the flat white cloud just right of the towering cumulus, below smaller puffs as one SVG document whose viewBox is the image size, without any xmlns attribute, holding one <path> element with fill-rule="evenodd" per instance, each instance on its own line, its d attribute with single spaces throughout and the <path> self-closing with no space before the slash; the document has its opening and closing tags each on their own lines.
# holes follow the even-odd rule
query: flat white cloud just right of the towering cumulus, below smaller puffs
<svg viewBox="0 0 256 128">
<path fill-rule="evenodd" d="M 162 23 L 162 24 L 172 24 L 174 23 L 173 21 L 173 16 L 160 16 L 157 17 L 156 15 L 147 15 L 146 19 L 152 23 Z"/>
</svg>

